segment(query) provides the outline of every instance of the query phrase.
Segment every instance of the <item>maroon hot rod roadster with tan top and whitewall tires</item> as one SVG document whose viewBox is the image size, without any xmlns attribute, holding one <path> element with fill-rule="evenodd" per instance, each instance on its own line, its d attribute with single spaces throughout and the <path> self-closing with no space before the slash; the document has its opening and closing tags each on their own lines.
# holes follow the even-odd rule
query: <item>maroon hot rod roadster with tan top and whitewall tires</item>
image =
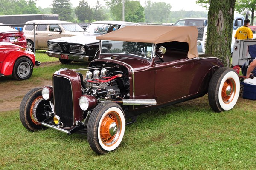
<svg viewBox="0 0 256 170">
<path fill-rule="evenodd" d="M 87 134 L 91 149 L 105 154 L 119 147 L 125 125 L 140 113 L 207 93 L 214 111 L 230 110 L 238 74 L 216 57 L 198 56 L 197 37 L 194 26 L 125 26 L 97 36 L 99 58 L 88 68 L 62 68 L 53 85 L 29 91 L 20 120 L 30 131 Z"/>
</svg>

